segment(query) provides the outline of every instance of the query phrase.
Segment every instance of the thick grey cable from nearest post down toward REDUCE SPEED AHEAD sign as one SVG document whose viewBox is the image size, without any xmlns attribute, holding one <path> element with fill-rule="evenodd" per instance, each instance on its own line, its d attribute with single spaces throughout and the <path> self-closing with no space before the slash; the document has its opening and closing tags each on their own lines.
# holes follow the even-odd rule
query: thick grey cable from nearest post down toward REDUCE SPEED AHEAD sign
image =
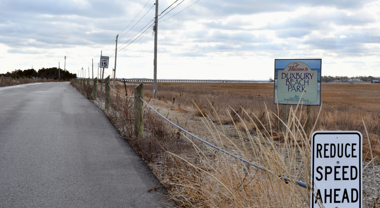
<svg viewBox="0 0 380 208">
<path fill-rule="evenodd" d="M 148 106 L 148 107 L 149 107 L 150 109 L 152 109 L 155 113 L 157 113 L 158 115 L 160 115 L 160 117 L 162 117 L 163 119 L 165 119 L 166 121 L 168 121 L 170 124 L 172 124 L 173 126 L 177 127 L 178 129 L 180 129 L 181 131 L 183 131 L 183 132 L 187 133 L 188 135 L 194 137 L 195 139 L 197 139 L 197 140 L 199 140 L 199 141 L 201 141 L 201 142 L 203 142 L 203 143 L 209 145 L 210 147 L 215 148 L 216 150 L 219 150 L 219 151 L 221 151 L 221 152 L 223 152 L 223 153 L 225 153 L 225 154 L 228 154 L 228 155 L 230 155 L 230 156 L 233 157 L 233 158 L 236 158 L 236 159 L 238 159 L 238 160 L 240 160 L 240 161 L 242 161 L 242 162 L 245 162 L 245 163 L 247 163 L 247 164 L 250 164 L 250 165 L 252 165 L 253 167 L 256 167 L 256 168 L 258 168 L 258 169 L 260 169 L 260 170 L 264 170 L 264 171 L 266 171 L 266 172 L 271 172 L 270 170 L 265 169 L 264 167 L 261 167 L 260 165 L 254 164 L 253 162 L 247 161 L 246 159 L 243 159 L 243 158 L 241 158 L 241 157 L 239 157 L 239 156 L 236 156 L 236 155 L 234 155 L 234 154 L 232 154 L 232 153 L 230 153 L 230 152 L 228 152 L 228 151 L 226 151 L 226 150 L 224 150 L 224 149 L 222 149 L 222 148 L 219 148 L 219 147 L 213 145 L 212 143 L 209 143 L 209 142 L 207 142 L 207 141 L 205 141 L 205 140 L 203 140 L 203 139 L 201 139 L 201 138 L 195 136 L 194 134 L 192 134 L 192 133 L 186 131 L 185 129 L 181 128 L 181 127 L 178 126 L 177 124 L 175 124 L 175 123 L 173 123 L 172 121 L 170 121 L 170 120 L 169 120 L 168 118 L 166 118 L 165 116 L 161 115 L 161 113 L 158 113 L 157 110 L 155 110 L 154 108 L 152 108 L 151 106 L 149 106 L 149 104 L 148 104 L 147 102 L 145 102 L 141 97 L 139 97 L 139 98 L 140 98 L 140 100 L 141 100 L 142 102 L 144 102 L 144 103 L 146 104 L 146 106 Z M 276 175 L 276 173 L 273 173 L 273 174 Z M 280 174 L 278 174 L 278 176 L 279 176 L 280 179 L 283 178 L 283 180 L 285 180 L 285 181 L 294 181 L 294 182 L 295 182 L 296 184 L 298 184 L 299 186 L 301 186 L 301 187 L 303 187 L 303 188 L 307 188 L 306 183 L 304 183 L 304 182 L 302 182 L 302 181 L 299 181 L 299 180 L 291 180 L 288 176 L 285 176 L 285 175 L 280 175 Z"/>
</svg>

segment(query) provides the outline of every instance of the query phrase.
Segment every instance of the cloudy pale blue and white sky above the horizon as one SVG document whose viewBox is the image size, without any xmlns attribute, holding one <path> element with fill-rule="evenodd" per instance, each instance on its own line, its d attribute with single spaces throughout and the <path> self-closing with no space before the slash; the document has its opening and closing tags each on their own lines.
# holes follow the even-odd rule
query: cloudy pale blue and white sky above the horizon
<svg viewBox="0 0 380 208">
<path fill-rule="evenodd" d="M 95 77 L 102 51 L 112 74 L 119 34 L 116 77 L 153 78 L 154 3 L 0 0 L 0 73 L 64 68 L 67 56 L 86 77 L 93 59 Z M 158 79 L 266 80 L 282 58 L 380 76 L 380 0 L 160 0 L 158 14 Z"/>
</svg>

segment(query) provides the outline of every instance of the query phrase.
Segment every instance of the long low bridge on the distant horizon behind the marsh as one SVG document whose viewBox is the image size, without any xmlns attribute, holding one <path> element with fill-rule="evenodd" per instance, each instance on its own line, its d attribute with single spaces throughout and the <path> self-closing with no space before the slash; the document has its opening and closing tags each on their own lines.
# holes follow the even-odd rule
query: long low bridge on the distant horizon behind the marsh
<svg viewBox="0 0 380 208">
<path fill-rule="evenodd" d="M 122 81 L 123 79 L 117 79 Z M 129 82 L 153 82 L 153 79 L 124 79 Z M 224 79 L 157 79 L 157 82 L 214 82 L 214 83 L 252 83 L 269 82 L 269 80 L 224 80 Z"/>
</svg>

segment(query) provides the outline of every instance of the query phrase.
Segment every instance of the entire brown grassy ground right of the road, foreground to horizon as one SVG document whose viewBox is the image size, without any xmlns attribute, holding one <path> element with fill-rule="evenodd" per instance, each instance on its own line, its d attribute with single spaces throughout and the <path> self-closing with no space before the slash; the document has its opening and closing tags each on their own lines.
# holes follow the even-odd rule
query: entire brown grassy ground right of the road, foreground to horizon
<svg viewBox="0 0 380 208">
<path fill-rule="evenodd" d="M 83 84 L 71 84 L 85 93 Z M 127 83 L 125 90 L 119 83 L 116 89 L 132 96 L 137 84 Z M 152 83 L 144 83 L 144 100 L 165 117 L 267 172 L 208 148 L 147 107 L 144 138 L 135 138 L 133 99 L 113 93 L 111 109 L 103 110 L 160 179 L 175 207 L 309 207 L 307 189 L 278 177 L 287 175 L 310 186 L 309 168 L 305 168 L 310 165 L 310 137 L 304 133 L 306 107 L 287 106 L 284 134 L 279 121 L 282 105 L 273 104 L 273 88 L 273 83 L 159 82 L 158 97 L 152 99 Z M 375 157 L 378 164 L 380 85 L 322 83 L 321 92 L 323 105 L 311 107 L 313 130 L 360 131 L 363 158 Z M 366 170 L 372 172 L 371 167 Z M 364 183 L 370 181 L 378 181 L 375 172 Z M 370 194 L 364 195 L 364 207 L 378 207 L 377 190 L 366 193 Z"/>
</svg>

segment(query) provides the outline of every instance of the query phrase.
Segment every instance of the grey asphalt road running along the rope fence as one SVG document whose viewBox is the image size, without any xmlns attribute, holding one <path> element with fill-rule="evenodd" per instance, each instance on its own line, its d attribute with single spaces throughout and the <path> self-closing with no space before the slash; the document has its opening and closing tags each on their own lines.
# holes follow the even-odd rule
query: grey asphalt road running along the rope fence
<svg viewBox="0 0 380 208">
<path fill-rule="evenodd" d="M 68 82 L 0 87 L 0 207 L 160 207 L 157 178 Z"/>
</svg>

